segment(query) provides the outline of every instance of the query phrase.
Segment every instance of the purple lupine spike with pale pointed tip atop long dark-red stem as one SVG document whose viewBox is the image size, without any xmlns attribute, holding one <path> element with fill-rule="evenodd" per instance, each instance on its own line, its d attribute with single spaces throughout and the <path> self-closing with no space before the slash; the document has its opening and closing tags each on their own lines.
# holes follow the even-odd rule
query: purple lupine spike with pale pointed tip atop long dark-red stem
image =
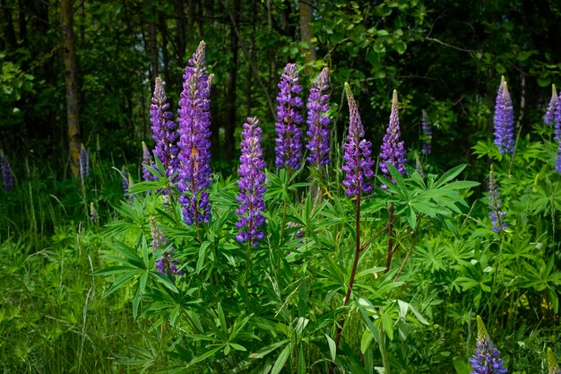
<svg viewBox="0 0 561 374">
<path fill-rule="evenodd" d="M 345 83 L 345 92 L 349 103 L 350 123 L 347 143 L 343 144 L 345 154 L 342 170 L 345 172 L 345 180 L 342 183 L 346 187 L 347 196 L 358 196 L 361 191 L 365 193 L 372 191 L 372 185 L 367 182 L 367 179 L 374 176 L 372 167 L 375 162 L 370 157 L 372 144 L 363 139 L 364 127 L 360 121 L 357 102 L 350 91 L 349 83 Z"/>
</svg>

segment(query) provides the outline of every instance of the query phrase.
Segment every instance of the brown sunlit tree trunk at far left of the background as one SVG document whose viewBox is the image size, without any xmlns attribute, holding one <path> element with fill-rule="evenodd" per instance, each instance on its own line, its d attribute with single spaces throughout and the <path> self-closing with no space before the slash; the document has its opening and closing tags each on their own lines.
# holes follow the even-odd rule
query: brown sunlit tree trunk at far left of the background
<svg viewBox="0 0 561 374">
<path fill-rule="evenodd" d="M 71 0 L 61 0 L 60 23 L 63 37 L 63 63 L 65 66 L 66 115 L 68 123 L 68 150 L 74 177 L 80 174 L 80 112 L 78 107 L 77 64 L 74 52 Z"/>
</svg>

